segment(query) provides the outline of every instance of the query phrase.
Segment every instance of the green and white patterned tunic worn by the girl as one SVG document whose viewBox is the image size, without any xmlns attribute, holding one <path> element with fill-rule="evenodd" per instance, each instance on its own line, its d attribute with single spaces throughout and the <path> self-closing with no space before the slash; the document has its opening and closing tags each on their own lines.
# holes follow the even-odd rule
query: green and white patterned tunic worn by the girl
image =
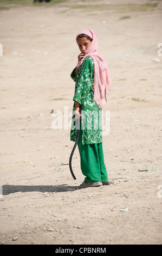
<svg viewBox="0 0 162 256">
<path fill-rule="evenodd" d="M 102 108 L 93 101 L 94 98 L 94 62 L 88 56 L 74 76 L 73 70 L 71 77 L 75 82 L 75 94 L 73 97 L 72 127 L 70 130 L 70 141 L 76 141 L 77 127 L 74 115 L 76 101 L 83 103 L 81 113 L 82 145 L 95 144 L 102 142 Z"/>
</svg>

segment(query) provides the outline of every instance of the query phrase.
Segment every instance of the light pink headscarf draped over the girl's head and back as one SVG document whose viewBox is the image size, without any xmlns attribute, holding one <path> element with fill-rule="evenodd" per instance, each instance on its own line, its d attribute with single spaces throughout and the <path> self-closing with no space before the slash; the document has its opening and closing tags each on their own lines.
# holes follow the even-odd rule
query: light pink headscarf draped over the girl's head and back
<svg viewBox="0 0 162 256">
<path fill-rule="evenodd" d="M 109 75 L 109 70 L 107 68 L 106 60 L 102 58 L 101 53 L 98 51 L 98 42 L 95 33 L 90 29 L 85 29 L 81 31 L 80 34 L 86 34 L 92 38 L 92 42 L 89 47 L 84 51 L 85 56 L 77 63 L 77 68 L 79 68 L 83 60 L 87 56 L 91 56 L 94 61 L 94 101 L 99 105 L 99 108 L 103 108 L 107 102 L 106 94 L 111 91 L 111 77 Z M 76 36 L 76 41 L 77 41 Z"/>
</svg>

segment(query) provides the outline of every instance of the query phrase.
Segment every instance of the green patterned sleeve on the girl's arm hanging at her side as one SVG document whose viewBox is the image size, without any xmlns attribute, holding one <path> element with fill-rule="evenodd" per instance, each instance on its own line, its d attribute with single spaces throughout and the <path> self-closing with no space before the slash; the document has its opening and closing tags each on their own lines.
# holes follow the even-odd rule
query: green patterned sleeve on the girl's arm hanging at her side
<svg viewBox="0 0 162 256">
<path fill-rule="evenodd" d="M 94 78 L 94 63 L 92 58 L 86 58 L 76 76 L 75 94 L 73 97 L 74 101 L 80 104 L 84 103 L 90 88 L 93 84 Z"/>
</svg>

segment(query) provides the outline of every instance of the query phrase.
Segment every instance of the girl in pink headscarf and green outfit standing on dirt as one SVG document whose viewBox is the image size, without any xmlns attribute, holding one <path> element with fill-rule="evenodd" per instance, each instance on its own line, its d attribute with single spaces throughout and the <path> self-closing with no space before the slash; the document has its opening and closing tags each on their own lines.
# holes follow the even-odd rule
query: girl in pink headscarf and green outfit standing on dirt
<svg viewBox="0 0 162 256">
<path fill-rule="evenodd" d="M 111 90 L 111 78 L 105 59 L 98 51 L 95 33 L 90 29 L 76 36 L 80 54 L 71 77 L 75 81 L 73 118 L 70 140 L 76 141 L 75 121 L 80 120 L 80 135 L 77 143 L 82 174 L 85 181 L 79 188 L 109 185 L 102 149 L 102 108 L 106 94 Z M 83 104 L 80 114 L 80 106 Z"/>
</svg>

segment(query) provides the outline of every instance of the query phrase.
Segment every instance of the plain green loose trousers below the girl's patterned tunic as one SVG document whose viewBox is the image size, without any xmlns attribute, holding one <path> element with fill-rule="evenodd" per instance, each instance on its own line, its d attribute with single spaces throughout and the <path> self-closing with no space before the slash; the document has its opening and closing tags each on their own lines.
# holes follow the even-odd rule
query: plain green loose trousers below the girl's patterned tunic
<svg viewBox="0 0 162 256">
<path fill-rule="evenodd" d="M 102 143 L 82 145 L 82 130 L 80 129 L 77 145 L 80 153 L 82 174 L 86 176 L 85 182 L 108 181 L 107 170 L 103 159 Z"/>
</svg>

